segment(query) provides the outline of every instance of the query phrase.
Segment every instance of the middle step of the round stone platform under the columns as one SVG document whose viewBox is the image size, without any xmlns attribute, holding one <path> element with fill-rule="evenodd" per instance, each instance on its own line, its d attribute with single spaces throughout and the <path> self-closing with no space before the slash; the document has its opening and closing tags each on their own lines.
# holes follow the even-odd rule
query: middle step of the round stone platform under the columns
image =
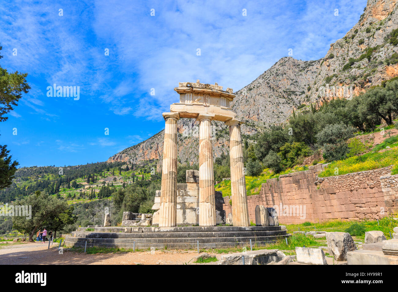
<svg viewBox="0 0 398 292">
<path fill-rule="evenodd" d="M 73 231 L 72 237 L 76 238 L 224 238 L 224 237 L 260 237 L 260 236 L 286 236 L 286 230 L 273 231 L 241 231 L 241 232 L 80 232 Z"/>
</svg>

